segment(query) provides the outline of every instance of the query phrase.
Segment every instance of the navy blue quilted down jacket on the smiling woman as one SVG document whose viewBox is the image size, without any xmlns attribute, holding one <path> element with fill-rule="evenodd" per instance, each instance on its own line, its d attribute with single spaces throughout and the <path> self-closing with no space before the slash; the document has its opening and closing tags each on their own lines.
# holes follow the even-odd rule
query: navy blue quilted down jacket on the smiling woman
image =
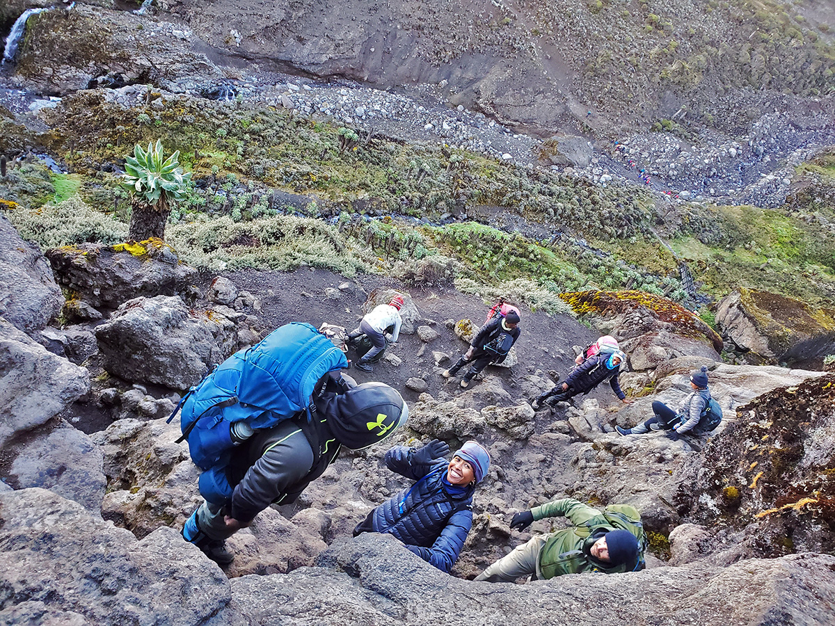
<svg viewBox="0 0 835 626">
<path fill-rule="evenodd" d="M 413 450 L 403 446 L 386 452 L 386 466 L 416 480 L 374 509 L 372 527 L 377 533 L 397 537 L 413 553 L 449 572 L 473 526 L 474 486 L 455 487 L 444 480 L 448 462 L 413 462 Z"/>
</svg>

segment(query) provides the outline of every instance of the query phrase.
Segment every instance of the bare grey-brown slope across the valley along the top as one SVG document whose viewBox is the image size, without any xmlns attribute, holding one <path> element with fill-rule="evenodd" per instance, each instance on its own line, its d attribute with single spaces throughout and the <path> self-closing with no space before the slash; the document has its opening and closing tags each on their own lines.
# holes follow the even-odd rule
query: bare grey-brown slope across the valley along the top
<svg viewBox="0 0 835 626">
<path fill-rule="evenodd" d="M 62 91 L 116 75 L 195 88 L 244 68 L 428 85 L 453 106 L 548 136 L 658 120 L 733 133 L 775 105 L 814 124 L 826 105 L 812 98 L 831 92 L 835 63 L 817 19 L 793 10 L 774 18 L 736 2 L 157 6 L 152 22 L 81 4 L 42 14 L 18 72 Z"/>
</svg>

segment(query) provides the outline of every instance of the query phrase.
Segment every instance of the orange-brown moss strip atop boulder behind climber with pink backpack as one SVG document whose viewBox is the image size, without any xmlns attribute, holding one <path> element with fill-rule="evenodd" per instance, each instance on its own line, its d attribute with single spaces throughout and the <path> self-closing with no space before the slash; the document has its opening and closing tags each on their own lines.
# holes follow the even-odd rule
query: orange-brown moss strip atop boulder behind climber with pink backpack
<svg viewBox="0 0 835 626">
<path fill-rule="evenodd" d="M 578 316 L 616 316 L 627 310 L 643 308 L 660 321 L 676 327 L 676 332 L 696 339 L 707 339 L 717 352 L 722 338 L 704 321 L 683 306 L 660 295 L 645 291 L 569 291 L 559 294 Z"/>
</svg>

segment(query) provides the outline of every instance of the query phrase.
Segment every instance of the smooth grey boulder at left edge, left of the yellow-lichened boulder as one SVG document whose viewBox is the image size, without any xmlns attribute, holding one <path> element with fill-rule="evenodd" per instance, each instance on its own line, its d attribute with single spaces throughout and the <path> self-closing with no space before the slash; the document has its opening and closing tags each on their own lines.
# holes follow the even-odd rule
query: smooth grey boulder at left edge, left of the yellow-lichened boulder
<svg viewBox="0 0 835 626">
<path fill-rule="evenodd" d="M 63 294 L 41 250 L 0 215 L 0 316 L 34 336 L 62 306 Z"/>
</svg>

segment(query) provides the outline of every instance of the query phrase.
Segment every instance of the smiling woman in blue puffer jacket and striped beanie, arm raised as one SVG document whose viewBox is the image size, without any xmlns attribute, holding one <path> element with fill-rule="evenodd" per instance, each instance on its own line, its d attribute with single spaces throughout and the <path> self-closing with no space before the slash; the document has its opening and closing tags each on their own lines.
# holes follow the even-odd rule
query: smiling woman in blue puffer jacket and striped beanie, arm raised
<svg viewBox="0 0 835 626">
<path fill-rule="evenodd" d="M 490 467 L 490 455 L 477 442 L 465 442 L 447 462 L 449 446 L 438 439 L 415 450 L 393 447 L 386 466 L 416 480 L 412 487 L 383 502 L 354 528 L 360 533 L 389 533 L 406 548 L 443 572 L 449 572 L 473 525 L 470 503 Z"/>
</svg>

